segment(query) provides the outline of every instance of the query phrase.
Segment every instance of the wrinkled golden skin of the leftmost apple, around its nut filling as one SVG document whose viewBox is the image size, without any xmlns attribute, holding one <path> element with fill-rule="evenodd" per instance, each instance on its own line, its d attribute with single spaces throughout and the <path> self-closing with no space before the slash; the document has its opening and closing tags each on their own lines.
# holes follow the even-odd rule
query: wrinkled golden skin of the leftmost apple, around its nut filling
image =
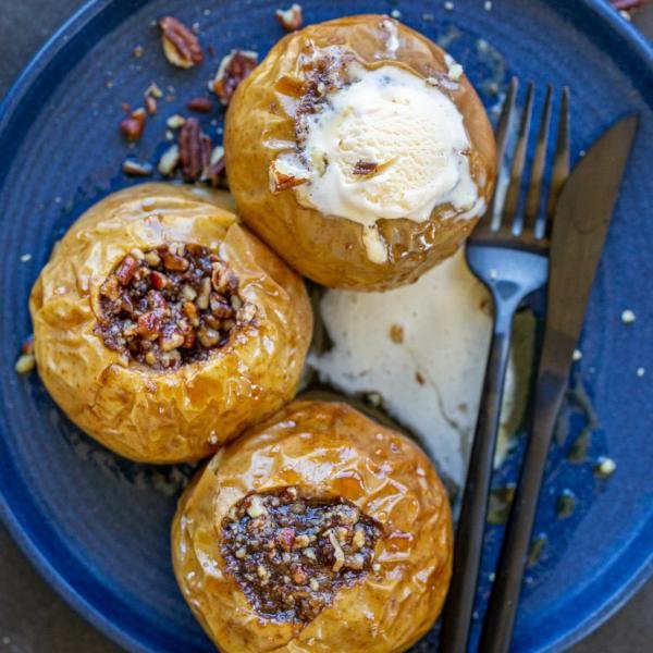
<svg viewBox="0 0 653 653">
<path fill-rule="evenodd" d="M 39 375 L 84 431 L 134 460 L 202 458 L 295 394 L 312 330 L 301 279 L 221 208 L 225 194 L 143 184 L 91 207 L 56 246 L 32 291 Z M 156 371 L 94 333 L 99 288 L 135 247 L 219 250 L 256 304 L 246 325 L 202 361 Z"/>
</svg>

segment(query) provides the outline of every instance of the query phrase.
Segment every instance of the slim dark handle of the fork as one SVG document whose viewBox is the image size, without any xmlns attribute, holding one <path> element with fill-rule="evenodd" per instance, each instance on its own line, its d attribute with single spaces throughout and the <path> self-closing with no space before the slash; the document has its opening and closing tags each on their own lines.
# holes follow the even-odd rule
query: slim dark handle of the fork
<svg viewBox="0 0 653 653">
<path fill-rule="evenodd" d="M 504 380 L 517 301 L 494 301 L 495 318 L 479 417 L 454 544 L 454 571 L 440 631 L 441 653 L 465 653 L 476 596 Z"/>
</svg>

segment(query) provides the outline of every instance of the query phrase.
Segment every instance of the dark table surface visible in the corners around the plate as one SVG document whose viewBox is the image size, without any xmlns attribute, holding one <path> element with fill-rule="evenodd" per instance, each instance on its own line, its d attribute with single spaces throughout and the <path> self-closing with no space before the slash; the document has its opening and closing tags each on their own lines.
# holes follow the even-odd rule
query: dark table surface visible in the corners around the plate
<svg viewBox="0 0 653 653">
<path fill-rule="evenodd" d="M 82 0 L 0 0 L 0 97 L 48 36 L 82 4 Z M 653 3 L 637 20 L 653 34 Z M 119 646 L 41 580 L 0 526 L 0 653 L 116 651 Z M 572 651 L 653 651 L 653 581 Z"/>
</svg>

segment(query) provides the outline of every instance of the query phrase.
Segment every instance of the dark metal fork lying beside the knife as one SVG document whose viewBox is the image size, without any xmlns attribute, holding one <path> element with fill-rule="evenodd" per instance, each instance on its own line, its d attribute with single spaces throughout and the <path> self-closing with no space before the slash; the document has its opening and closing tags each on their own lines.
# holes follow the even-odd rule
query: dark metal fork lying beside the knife
<svg viewBox="0 0 653 653">
<path fill-rule="evenodd" d="M 517 88 L 518 81 L 514 77 L 496 127 L 500 171 L 506 156 L 510 124 L 517 116 Z M 454 574 L 443 613 L 440 634 L 442 653 L 465 653 L 468 648 L 513 318 L 523 299 L 546 283 L 551 222 L 557 197 L 569 175 L 569 90 L 565 87 L 551 164 L 549 197 L 541 209 L 545 200 L 544 171 L 553 99 L 553 88 L 549 86 L 528 190 L 526 198 L 521 197 L 533 96 L 534 85 L 531 83 L 527 88 L 512 152 L 507 192 L 503 198 L 500 192 L 494 192 L 485 214 L 466 246 L 469 268 L 491 293 L 494 326 L 454 546 Z M 521 205 L 523 210 L 520 210 Z"/>
</svg>

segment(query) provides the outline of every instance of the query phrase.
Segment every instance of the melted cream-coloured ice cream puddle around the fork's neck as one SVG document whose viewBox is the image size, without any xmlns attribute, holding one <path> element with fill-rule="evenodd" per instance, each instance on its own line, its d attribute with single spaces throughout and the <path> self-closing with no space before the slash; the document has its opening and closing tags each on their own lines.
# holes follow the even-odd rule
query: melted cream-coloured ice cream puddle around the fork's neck
<svg viewBox="0 0 653 653">
<path fill-rule="evenodd" d="M 484 286 L 460 251 L 417 283 L 385 293 L 326 291 L 321 315 L 333 347 L 309 359 L 320 379 L 348 394 L 379 393 L 457 485 L 467 457 L 485 369 L 492 320 Z M 523 415 L 533 319 L 515 324 L 496 461 Z M 398 341 L 402 342 L 398 342 Z"/>
</svg>

